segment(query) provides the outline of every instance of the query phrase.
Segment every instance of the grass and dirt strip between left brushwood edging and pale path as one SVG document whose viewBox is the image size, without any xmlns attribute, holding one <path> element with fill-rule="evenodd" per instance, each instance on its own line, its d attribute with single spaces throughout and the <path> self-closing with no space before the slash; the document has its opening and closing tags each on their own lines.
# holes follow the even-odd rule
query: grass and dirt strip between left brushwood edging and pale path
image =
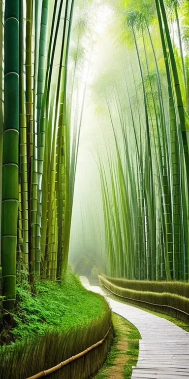
<svg viewBox="0 0 189 379">
<path fill-rule="evenodd" d="M 114 342 L 103 367 L 94 379 L 130 379 L 138 359 L 140 334 L 136 327 L 113 313 Z"/>
</svg>

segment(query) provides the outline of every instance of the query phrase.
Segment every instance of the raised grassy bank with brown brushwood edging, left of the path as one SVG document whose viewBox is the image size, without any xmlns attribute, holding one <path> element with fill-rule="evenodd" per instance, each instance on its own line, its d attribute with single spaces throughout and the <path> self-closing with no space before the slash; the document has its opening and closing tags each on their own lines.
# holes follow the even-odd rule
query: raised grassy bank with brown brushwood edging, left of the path
<svg viewBox="0 0 189 379">
<path fill-rule="evenodd" d="M 63 284 L 41 281 L 32 290 L 22 281 L 17 287 L 16 308 L 6 317 L 11 317 L 12 325 L 1 332 L 1 343 L 8 342 L 0 348 L 1 379 L 25 379 L 48 370 L 102 340 L 109 328 L 101 345 L 51 378 L 88 379 L 110 351 L 113 328 L 109 305 L 102 296 L 87 291 L 71 272 Z"/>
</svg>

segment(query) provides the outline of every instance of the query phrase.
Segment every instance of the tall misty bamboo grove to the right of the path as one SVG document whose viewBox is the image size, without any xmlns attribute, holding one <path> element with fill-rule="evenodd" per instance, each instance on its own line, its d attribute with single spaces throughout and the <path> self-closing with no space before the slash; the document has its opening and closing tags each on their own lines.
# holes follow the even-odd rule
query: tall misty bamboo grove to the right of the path
<svg viewBox="0 0 189 379">
<path fill-rule="evenodd" d="M 188 280 L 189 2 L 109 4 L 117 48 L 94 85 L 114 140 L 105 139 L 106 160 L 97 149 L 105 273 Z"/>
</svg>

